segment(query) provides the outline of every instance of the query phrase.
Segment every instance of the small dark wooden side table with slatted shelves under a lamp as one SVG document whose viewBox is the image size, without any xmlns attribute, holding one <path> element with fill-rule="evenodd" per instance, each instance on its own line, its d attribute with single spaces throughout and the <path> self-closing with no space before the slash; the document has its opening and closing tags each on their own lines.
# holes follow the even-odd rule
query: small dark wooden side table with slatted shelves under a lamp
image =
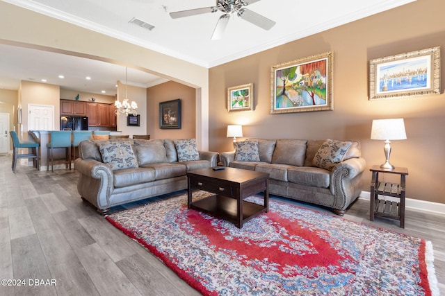
<svg viewBox="0 0 445 296">
<path fill-rule="evenodd" d="M 405 179 L 408 175 L 407 168 L 396 167 L 392 170 L 372 166 L 369 170 L 373 173 L 371 181 L 371 202 L 369 209 L 369 220 L 374 216 L 380 216 L 400 221 L 400 227 L 405 228 Z M 379 173 L 396 174 L 401 176 L 400 183 L 380 182 Z M 378 198 L 378 195 L 399 198 L 399 202 Z"/>
</svg>

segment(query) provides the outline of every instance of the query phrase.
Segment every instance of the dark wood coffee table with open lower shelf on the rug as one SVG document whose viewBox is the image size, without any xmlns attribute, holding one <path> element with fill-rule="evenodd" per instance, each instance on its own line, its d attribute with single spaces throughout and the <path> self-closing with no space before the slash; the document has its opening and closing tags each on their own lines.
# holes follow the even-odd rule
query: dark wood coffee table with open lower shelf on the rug
<svg viewBox="0 0 445 296">
<path fill-rule="evenodd" d="M 243 223 L 269 211 L 269 174 L 240 168 L 213 171 L 202 168 L 187 173 L 188 209 L 223 218 L 239 228 Z M 193 189 L 216 193 L 193 202 Z M 264 204 L 254 204 L 244 199 L 259 192 L 264 193 Z"/>
</svg>

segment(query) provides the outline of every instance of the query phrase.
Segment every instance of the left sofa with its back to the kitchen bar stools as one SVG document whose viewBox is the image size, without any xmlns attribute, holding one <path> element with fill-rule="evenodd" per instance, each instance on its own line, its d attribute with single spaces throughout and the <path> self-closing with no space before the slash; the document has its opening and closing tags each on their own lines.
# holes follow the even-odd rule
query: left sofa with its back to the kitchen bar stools
<svg viewBox="0 0 445 296">
<path fill-rule="evenodd" d="M 81 141 L 80 157 L 74 161 L 80 174 L 77 190 L 105 215 L 119 204 L 187 189 L 187 171 L 216 166 L 219 160 L 219 153 L 197 151 L 193 143 L 194 139 Z"/>
</svg>

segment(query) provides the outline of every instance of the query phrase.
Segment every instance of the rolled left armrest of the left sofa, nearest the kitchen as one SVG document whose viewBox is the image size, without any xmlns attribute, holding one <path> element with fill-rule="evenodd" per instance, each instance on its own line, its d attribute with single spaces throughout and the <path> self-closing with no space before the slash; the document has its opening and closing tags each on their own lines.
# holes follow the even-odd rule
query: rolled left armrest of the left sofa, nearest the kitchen
<svg viewBox="0 0 445 296">
<path fill-rule="evenodd" d="M 81 197 L 97 209 L 106 208 L 114 189 L 111 168 L 97 160 L 81 158 L 74 161 L 74 168 L 79 172 L 77 191 Z"/>
</svg>

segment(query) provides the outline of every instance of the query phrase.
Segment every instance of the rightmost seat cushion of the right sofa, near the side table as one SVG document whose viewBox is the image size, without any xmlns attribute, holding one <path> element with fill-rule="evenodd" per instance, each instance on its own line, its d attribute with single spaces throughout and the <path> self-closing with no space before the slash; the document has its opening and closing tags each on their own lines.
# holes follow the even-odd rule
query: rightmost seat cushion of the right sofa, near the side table
<svg viewBox="0 0 445 296">
<path fill-rule="evenodd" d="M 330 171 L 313 166 L 293 166 L 287 171 L 287 179 L 291 183 L 329 188 Z"/>
</svg>

